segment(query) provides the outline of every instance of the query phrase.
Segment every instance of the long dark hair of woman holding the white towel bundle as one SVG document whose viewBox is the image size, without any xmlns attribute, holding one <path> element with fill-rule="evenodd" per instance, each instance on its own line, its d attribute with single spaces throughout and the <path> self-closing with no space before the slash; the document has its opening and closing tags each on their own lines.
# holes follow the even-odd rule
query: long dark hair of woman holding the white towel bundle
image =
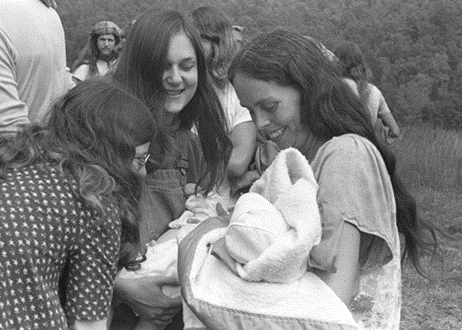
<svg viewBox="0 0 462 330">
<path fill-rule="evenodd" d="M 329 140 L 354 133 L 377 147 L 391 178 L 398 230 L 406 240 L 403 260 L 407 257 L 424 275 L 420 257 L 425 251 L 435 252 L 436 230 L 418 217 L 415 200 L 396 173 L 394 154 L 376 138 L 364 106 L 319 47 L 297 32 L 277 29 L 258 36 L 238 53 L 229 70 L 231 81 L 238 72 L 296 87 L 301 94 L 301 122 L 316 137 Z"/>
</svg>

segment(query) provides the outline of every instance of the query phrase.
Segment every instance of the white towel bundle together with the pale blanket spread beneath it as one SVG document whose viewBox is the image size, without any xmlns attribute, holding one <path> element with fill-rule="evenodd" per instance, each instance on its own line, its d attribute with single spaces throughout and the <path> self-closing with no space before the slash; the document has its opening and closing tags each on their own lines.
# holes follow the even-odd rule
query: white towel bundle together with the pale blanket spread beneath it
<svg viewBox="0 0 462 330">
<path fill-rule="evenodd" d="M 181 286 L 207 329 L 357 329 L 347 306 L 307 271 L 321 239 L 317 189 L 305 157 L 283 150 L 237 200 L 228 227 L 196 233 Z"/>
</svg>

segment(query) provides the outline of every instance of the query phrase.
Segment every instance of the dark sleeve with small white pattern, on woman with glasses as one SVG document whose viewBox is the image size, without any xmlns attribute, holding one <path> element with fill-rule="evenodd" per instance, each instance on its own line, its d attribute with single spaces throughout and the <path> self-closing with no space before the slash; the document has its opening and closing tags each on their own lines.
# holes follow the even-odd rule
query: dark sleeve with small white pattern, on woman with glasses
<svg viewBox="0 0 462 330">
<path fill-rule="evenodd" d="M 120 217 L 113 204 L 106 214 L 81 213 L 78 226 L 85 226 L 69 261 L 66 316 L 69 320 L 96 321 L 107 317 L 120 249 Z"/>
</svg>

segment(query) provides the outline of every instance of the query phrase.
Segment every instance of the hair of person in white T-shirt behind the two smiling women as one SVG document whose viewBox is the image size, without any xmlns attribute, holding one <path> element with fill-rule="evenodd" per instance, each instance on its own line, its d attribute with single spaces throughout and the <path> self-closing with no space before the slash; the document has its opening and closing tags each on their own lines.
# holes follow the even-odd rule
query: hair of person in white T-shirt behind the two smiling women
<svg viewBox="0 0 462 330">
<path fill-rule="evenodd" d="M 238 50 L 233 24 L 223 10 L 213 6 L 199 7 L 191 17 L 201 38 L 212 46 L 212 54 L 207 57 L 209 73 L 215 85 L 224 89 L 229 83 L 228 68 Z"/>
</svg>

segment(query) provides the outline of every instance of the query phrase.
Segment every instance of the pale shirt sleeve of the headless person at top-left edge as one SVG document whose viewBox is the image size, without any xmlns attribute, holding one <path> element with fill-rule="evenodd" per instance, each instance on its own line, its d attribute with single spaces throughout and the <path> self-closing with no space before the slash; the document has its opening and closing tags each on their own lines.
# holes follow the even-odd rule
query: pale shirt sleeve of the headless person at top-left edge
<svg viewBox="0 0 462 330">
<path fill-rule="evenodd" d="M 16 52 L 0 26 L 0 131 L 16 131 L 29 123 L 27 106 L 19 99 L 15 72 Z"/>
</svg>

